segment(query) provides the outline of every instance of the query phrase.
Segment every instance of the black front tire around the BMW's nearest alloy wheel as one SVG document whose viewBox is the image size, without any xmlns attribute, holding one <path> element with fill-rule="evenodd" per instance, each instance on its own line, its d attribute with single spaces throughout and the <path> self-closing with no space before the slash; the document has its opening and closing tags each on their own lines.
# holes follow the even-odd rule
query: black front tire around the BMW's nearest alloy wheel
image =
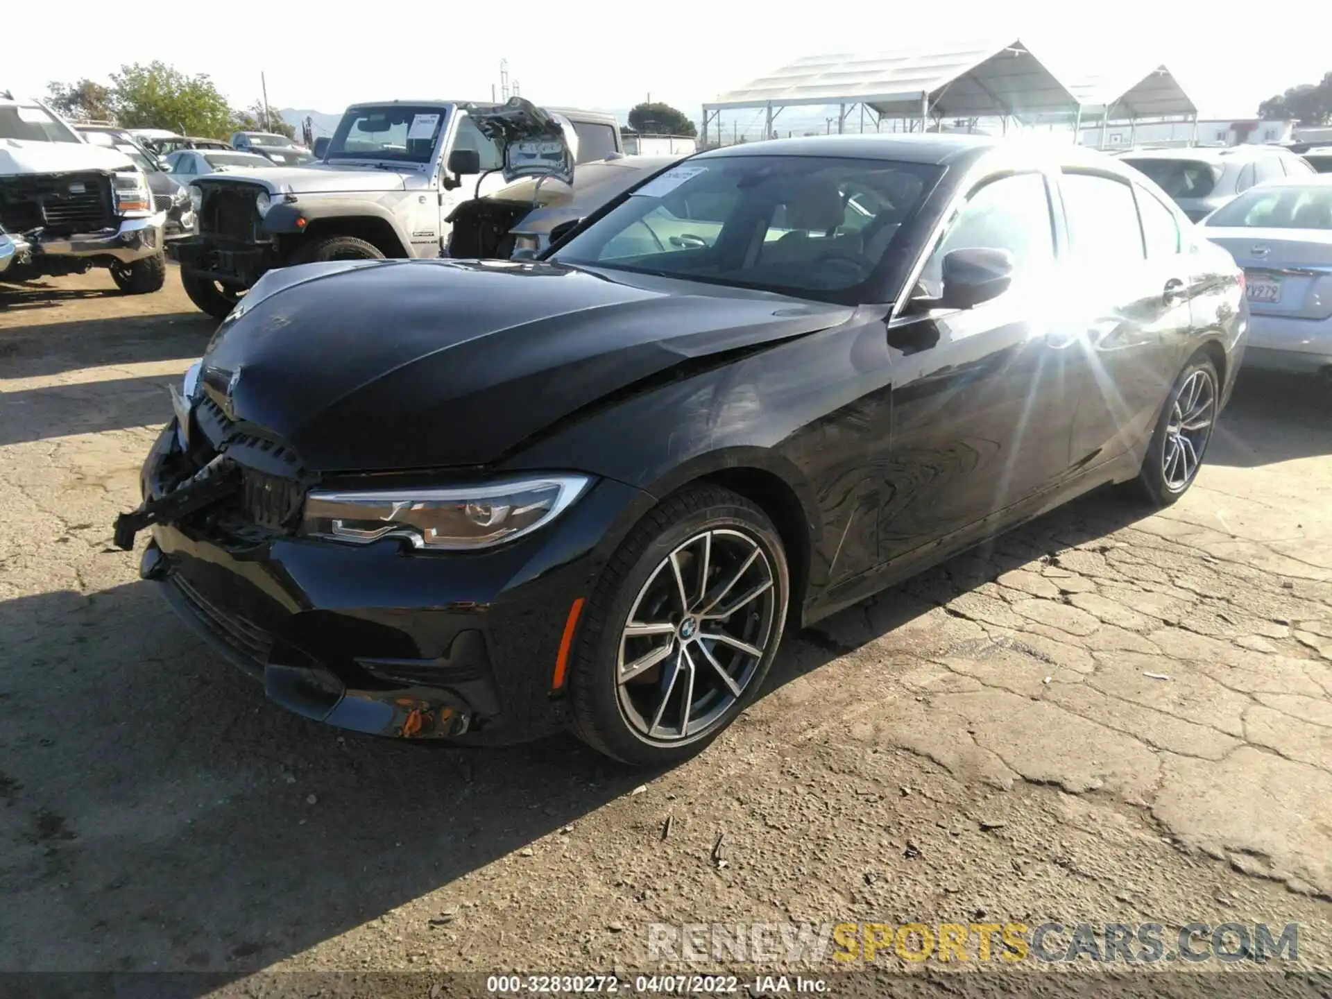
<svg viewBox="0 0 1332 999">
<path fill-rule="evenodd" d="M 705 563 L 701 554 L 703 543 L 707 545 L 710 583 L 699 578 Z M 761 557 L 753 557 L 747 563 L 750 567 L 739 571 L 737 567 L 746 565 L 746 553 L 751 550 L 746 545 Z M 673 565 L 673 559 L 678 561 Z M 669 597 L 671 606 L 679 607 L 679 601 L 694 599 L 694 593 L 699 594 L 690 611 L 687 631 L 683 613 L 673 618 L 665 611 L 665 603 L 651 613 L 643 609 L 645 594 L 651 597 L 651 587 L 658 586 L 661 574 L 667 566 L 674 569 L 677 565 L 681 566 L 679 575 L 666 575 L 663 583 L 671 594 L 679 595 L 679 599 Z M 737 583 L 725 591 L 727 599 L 722 602 L 717 598 L 722 593 L 721 583 L 733 575 Z M 677 583 L 675 578 L 681 582 Z M 686 578 L 687 583 L 683 582 Z M 770 581 L 767 589 L 761 589 L 765 579 Z M 690 593 L 686 594 L 686 590 Z M 758 595 L 734 607 L 734 602 L 754 590 Z M 709 485 L 689 486 L 667 497 L 634 527 L 610 558 L 583 610 L 567 681 L 574 733 L 599 753 L 633 766 L 667 766 L 701 751 L 735 721 L 763 686 L 781 645 L 789 594 L 790 577 L 782 539 L 763 510 L 742 496 Z M 709 609 L 709 599 L 721 603 L 721 607 Z M 677 631 L 653 638 L 625 638 L 623 630 L 635 607 L 639 609 L 638 622 L 645 617 L 659 618 L 663 625 L 678 621 Z M 713 613 L 727 607 L 731 613 L 726 618 Z M 711 617 L 707 617 L 710 613 Z M 737 629 L 739 634 L 735 634 Z M 711 650 L 707 651 L 705 638 L 717 631 L 743 639 L 762 655 L 745 654 L 730 643 L 717 641 L 709 643 Z M 647 658 L 641 655 L 641 642 L 649 643 L 649 655 L 666 646 L 691 651 L 683 658 L 674 651 L 667 659 L 658 659 L 661 665 L 642 671 L 641 679 L 635 675 L 622 685 L 621 655 L 638 662 Z M 633 651 L 629 651 L 630 647 Z M 693 662 L 694 658 L 698 663 Z M 730 683 L 721 675 L 723 671 L 731 677 Z M 677 678 L 683 678 L 678 694 L 674 693 Z M 698 705 L 691 702 L 691 711 L 698 714 L 686 714 L 682 701 L 695 694 Z M 634 698 L 661 705 L 651 722 L 638 711 Z M 671 734 L 657 725 L 658 719 L 667 721 L 663 714 L 667 703 L 673 709 L 670 721 L 678 729 Z M 699 726 L 697 731 L 690 731 L 691 721 Z M 662 734 L 653 738 L 657 731 Z"/>
</svg>

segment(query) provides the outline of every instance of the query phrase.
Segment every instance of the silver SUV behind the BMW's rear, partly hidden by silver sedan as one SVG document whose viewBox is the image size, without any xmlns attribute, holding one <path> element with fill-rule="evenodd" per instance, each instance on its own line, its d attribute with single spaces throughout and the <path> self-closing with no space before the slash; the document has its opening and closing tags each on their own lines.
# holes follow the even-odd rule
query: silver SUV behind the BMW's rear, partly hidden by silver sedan
<svg viewBox="0 0 1332 999">
<path fill-rule="evenodd" d="M 1299 156 L 1272 145 L 1134 149 L 1119 159 L 1156 181 L 1195 222 L 1255 184 L 1313 173 Z"/>
</svg>

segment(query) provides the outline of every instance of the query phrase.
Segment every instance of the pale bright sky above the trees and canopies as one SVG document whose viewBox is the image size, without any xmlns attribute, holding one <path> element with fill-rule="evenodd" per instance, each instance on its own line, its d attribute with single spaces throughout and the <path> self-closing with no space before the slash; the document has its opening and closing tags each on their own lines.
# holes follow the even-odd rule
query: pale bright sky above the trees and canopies
<svg viewBox="0 0 1332 999">
<path fill-rule="evenodd" d="M 1047 63 L 1091 69 L 1166 63 L 1203 116 L 1332 71 L 1332 4 L 1086 3 L 503 3 L 194 0 L 111 12 L 99 0 L 24 3 L 0 15 L 0 89 L 41 96 L 51 80 L 107 80 L 161 59 L 208 73 L 236 107 L 340 112 L 357 100 L 488 100 L 507 59 L 538 103 L 623 109 L 646 95 L 695 120 L 699 105 L 807 55 L 928 44 L 950 32 L 1019 37 Z"/>
</svg>

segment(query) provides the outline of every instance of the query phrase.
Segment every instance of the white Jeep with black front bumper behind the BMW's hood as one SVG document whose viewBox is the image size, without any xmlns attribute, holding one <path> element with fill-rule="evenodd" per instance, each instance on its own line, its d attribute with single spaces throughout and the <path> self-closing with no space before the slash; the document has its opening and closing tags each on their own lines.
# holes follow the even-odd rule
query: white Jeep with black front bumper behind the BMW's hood
<svg viewBox="0 0 1332 999">
<path fill-rule="evenodd" d="M 519 177 L 571 180 L 577 145 L 567 113 L 519 97 L 353 104 L 317 163 L 190 184 L 200 232 L 172 246 L 181 284 L 224 318 L 273 268 L 438 257 L 460 204 Z"/>
</svg>

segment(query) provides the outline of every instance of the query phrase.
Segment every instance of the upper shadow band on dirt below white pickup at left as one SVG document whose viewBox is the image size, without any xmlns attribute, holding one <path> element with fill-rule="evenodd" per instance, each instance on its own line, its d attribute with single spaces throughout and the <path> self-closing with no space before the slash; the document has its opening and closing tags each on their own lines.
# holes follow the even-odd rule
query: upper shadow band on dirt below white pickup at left
<svg viewBox="0 0 1332 999">
<path fill-rule="evenodd" d="M 116 364 L 194 360 L 217 329 L 216 320 L 198 312 L 25 325 L 9 325 L 5 318 L 0 309 L 3 378 L 41 378 Z"/>
</svg>

